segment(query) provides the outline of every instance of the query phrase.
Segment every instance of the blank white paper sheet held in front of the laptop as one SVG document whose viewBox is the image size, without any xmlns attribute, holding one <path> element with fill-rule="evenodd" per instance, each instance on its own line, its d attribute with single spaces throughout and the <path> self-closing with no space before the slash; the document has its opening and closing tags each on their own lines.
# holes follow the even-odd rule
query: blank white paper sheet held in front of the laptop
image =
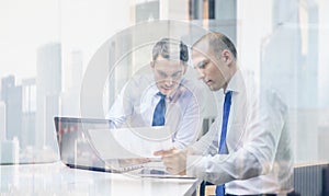
<svg viewBox="0 0 329 196">
<path fill-rule="evenodd" d="M 155 151 L 173 147 L 169 127 L 89 129 L 88 137 L 103 160 L 158 158 Z"/>
</svg>

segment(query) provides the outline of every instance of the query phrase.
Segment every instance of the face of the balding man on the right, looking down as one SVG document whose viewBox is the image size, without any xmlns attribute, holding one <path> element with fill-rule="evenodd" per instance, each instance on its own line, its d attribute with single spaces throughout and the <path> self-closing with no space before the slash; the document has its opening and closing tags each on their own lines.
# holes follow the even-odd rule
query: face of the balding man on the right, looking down
<svg viewBox="0 0 329 196">
<path fill-rule="evenodd" d="M 200 73 L 200 79 L 212 91 L 218 91 L 227 87 L 230 71 L 223 54 L 214 54 L 206 44 L 200 43 L 192 51 L 192 60 L 194 68 Z"/>
</svg>

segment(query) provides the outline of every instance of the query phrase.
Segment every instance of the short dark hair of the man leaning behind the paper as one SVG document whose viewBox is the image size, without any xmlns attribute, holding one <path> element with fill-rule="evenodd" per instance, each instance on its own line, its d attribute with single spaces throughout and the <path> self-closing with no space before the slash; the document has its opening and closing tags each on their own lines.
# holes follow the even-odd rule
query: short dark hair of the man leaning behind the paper
<svg viewBox="0 0 329 196">
<path fill-rule="evenodd" d="M 152 60 L 156 60 L 159 56 L 168 60 L 180 59 L 185 64 L 189 61 L 189 49 L 183 42 L 162 38 L 154 46 Z"/>
</svg>

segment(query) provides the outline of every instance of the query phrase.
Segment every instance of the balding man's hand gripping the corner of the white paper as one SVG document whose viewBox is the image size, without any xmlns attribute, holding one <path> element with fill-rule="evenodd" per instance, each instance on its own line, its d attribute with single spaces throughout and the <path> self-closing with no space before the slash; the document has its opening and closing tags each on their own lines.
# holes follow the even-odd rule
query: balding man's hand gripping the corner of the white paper
<svg viewBox="0 0 329 196">
<path fill-rule="evenodd" d="M 161 155 L 166 170 L 171 174 L 186 174 L 186 153 L 188 150 L 160 150 L 155 152 L 155 155 Z"/>
</svg>

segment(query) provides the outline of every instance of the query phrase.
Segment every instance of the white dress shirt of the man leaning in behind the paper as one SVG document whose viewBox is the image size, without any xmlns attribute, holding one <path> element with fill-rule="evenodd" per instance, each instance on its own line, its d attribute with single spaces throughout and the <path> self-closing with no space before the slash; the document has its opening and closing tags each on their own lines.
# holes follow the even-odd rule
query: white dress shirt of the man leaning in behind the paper
<svg viewBox="0 0 329 196">
<path fill-rule="evenodd" d="M 178 89 L 166 97 L 166 123 L 172 131 L 173 146 L 183 149 L 195 142 L 202 127 L 200 85 L 182 79 Z M 113 127 L 151 126 L 156 105 L 160 101 L 151 74 L 135 76 L 123 88 L 106 115 Z"/>
</svg>

